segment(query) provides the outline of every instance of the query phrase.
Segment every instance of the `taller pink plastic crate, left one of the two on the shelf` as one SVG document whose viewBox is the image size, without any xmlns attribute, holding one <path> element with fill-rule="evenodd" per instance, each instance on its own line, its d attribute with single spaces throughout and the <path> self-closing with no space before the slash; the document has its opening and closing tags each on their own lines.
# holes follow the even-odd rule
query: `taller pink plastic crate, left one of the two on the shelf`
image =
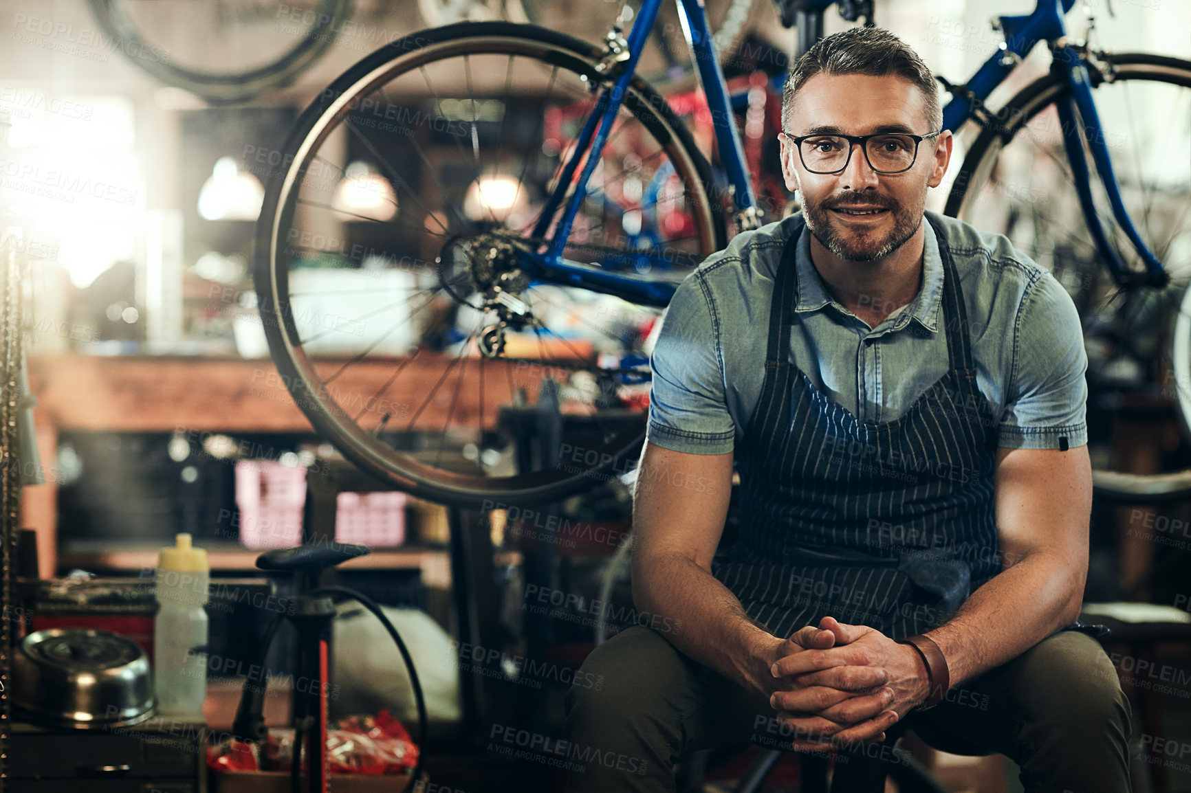
<svg viewBox="0 0 1191 793">
<path fill-rule="evenodd" d="M 301 542 L 306 469 L 267 460 L 236 463 L 239 541 L 249 548 L 293 548 Z"/>
</svg>

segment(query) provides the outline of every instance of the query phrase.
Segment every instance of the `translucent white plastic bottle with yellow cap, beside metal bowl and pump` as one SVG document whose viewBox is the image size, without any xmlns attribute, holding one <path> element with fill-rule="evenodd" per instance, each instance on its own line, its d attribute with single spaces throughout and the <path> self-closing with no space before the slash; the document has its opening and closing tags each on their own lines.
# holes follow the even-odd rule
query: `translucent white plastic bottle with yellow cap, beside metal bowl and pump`
<svg viewBox="0 0 1191 793">
<path fill-rule="evenodd" d="M 162 716 L 202 718 L 207 695 L 207 551 L 177 535 L 157 558 L 154 692 Z"/>
</svg>

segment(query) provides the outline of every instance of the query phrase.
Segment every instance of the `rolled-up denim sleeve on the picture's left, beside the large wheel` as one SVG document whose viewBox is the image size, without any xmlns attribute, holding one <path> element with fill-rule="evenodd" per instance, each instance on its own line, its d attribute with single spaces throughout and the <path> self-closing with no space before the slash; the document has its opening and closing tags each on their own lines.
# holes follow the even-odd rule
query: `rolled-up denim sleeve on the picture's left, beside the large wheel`
<svg viewBox="0 0 1191 793">
<path fill-rule="evenodd" d="M 649 361 L 654 374 L 646 439 L 672 451 L 731 451 L 736 425 L 724 398 L 719 327 L 698 275 L 674 293 Z"/>
</svg>

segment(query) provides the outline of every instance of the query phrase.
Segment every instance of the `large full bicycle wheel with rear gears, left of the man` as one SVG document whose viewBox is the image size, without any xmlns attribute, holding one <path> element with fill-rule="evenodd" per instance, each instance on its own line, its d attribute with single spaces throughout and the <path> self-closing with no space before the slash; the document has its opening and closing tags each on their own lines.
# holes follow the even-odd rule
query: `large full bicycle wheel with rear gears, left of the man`
<svg viewBox="0 0 1191 793">
<path fill-rule="evenodd" d="M 278 157 L 254 266 L 272 356 L 314 427 L 400 489 L 554 499 L 640 447 L 660 310 L 518 264 L 599 57 L 528 25 L 417 33 L 322 92 Z M 723 245 L 710 168 L 644 82 L 599 154 L 568 260 L 676 282 Z M 495 292 L 522 311 L 507 333 Z"/>
</svg>

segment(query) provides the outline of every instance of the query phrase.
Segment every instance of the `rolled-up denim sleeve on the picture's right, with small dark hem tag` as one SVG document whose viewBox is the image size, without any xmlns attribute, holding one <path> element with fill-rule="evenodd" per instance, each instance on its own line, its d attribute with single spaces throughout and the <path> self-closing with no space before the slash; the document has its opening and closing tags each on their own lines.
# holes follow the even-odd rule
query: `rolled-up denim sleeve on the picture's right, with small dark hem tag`
<svg viewBox="0 0 1191 793">
<path fill-rule="evenodd" d="M 1018 307 L 999 445 L 1067 449 L 1087 443 L 1086 371 L 1075 304 L 1053 275 L 1043 273 Z"/>
</svg>

